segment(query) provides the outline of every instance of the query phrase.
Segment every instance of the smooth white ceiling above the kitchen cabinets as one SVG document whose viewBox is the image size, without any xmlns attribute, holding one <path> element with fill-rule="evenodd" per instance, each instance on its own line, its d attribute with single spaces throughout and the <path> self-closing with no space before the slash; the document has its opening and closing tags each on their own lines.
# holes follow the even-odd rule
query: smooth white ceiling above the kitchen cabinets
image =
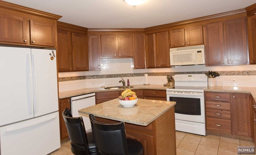
<svg viewBox="0 0 256 155">
<path fill-rule="evenodd" d="M 256 0 L 144 0 L 135 9 L 124 0 L 5 0 L 63 16 L 86 28 L 148 28 L 238 10 Z"/>
</svg>

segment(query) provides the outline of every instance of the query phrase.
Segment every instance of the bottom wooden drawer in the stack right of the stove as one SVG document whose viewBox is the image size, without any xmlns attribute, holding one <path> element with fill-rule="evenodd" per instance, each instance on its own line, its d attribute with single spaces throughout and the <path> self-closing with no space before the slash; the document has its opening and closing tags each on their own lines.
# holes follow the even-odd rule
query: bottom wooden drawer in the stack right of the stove
<svg viewBox="0 0 256 155">
<path fill-rule="evenodd" d="M 226 119 L 206 118 L 206 129 L 231 133 L 231 121 Z"/>
</svg>

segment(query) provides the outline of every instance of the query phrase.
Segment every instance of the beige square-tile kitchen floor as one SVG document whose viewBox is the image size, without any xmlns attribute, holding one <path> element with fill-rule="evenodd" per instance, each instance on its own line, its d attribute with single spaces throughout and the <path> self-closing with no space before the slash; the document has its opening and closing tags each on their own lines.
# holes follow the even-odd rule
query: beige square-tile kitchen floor
<svg viewBox="0 0 256 155">
<path fill-rule="evenodd" d="M 216 135 L 195 135 L 176 131 L 177 155 L 237 155 L 238 146 L 254 146 L 251 141 Z M 61 144 L 51 155 L 73 155 L 70 141 Z"/>
</svg>

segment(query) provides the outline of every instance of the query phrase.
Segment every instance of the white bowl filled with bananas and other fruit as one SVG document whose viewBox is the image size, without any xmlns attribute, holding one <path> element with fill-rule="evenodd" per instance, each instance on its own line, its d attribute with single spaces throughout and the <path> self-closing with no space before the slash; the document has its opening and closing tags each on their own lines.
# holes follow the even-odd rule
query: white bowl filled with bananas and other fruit
<svg viewBox="0 0 256 155">
<path fill-rule="evenodd" d="M 132 107 L 138 101 L 136 93 L 131 89 L 126 89 L 122 92 L 122 96 L 118 97 L 118 101 L 124 107 Z"/>
</svg>

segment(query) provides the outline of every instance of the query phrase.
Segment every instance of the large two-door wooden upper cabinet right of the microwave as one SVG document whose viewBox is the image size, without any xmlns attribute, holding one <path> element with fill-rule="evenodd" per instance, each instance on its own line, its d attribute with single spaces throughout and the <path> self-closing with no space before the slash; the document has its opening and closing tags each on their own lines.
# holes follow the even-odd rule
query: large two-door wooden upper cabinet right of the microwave
<svg viewBox="0 0 256 155">
<path fill-rule="evenodd" d="M 206 24 L 206 65 L 248 64 L 246 18 Z"/>
</svg>

